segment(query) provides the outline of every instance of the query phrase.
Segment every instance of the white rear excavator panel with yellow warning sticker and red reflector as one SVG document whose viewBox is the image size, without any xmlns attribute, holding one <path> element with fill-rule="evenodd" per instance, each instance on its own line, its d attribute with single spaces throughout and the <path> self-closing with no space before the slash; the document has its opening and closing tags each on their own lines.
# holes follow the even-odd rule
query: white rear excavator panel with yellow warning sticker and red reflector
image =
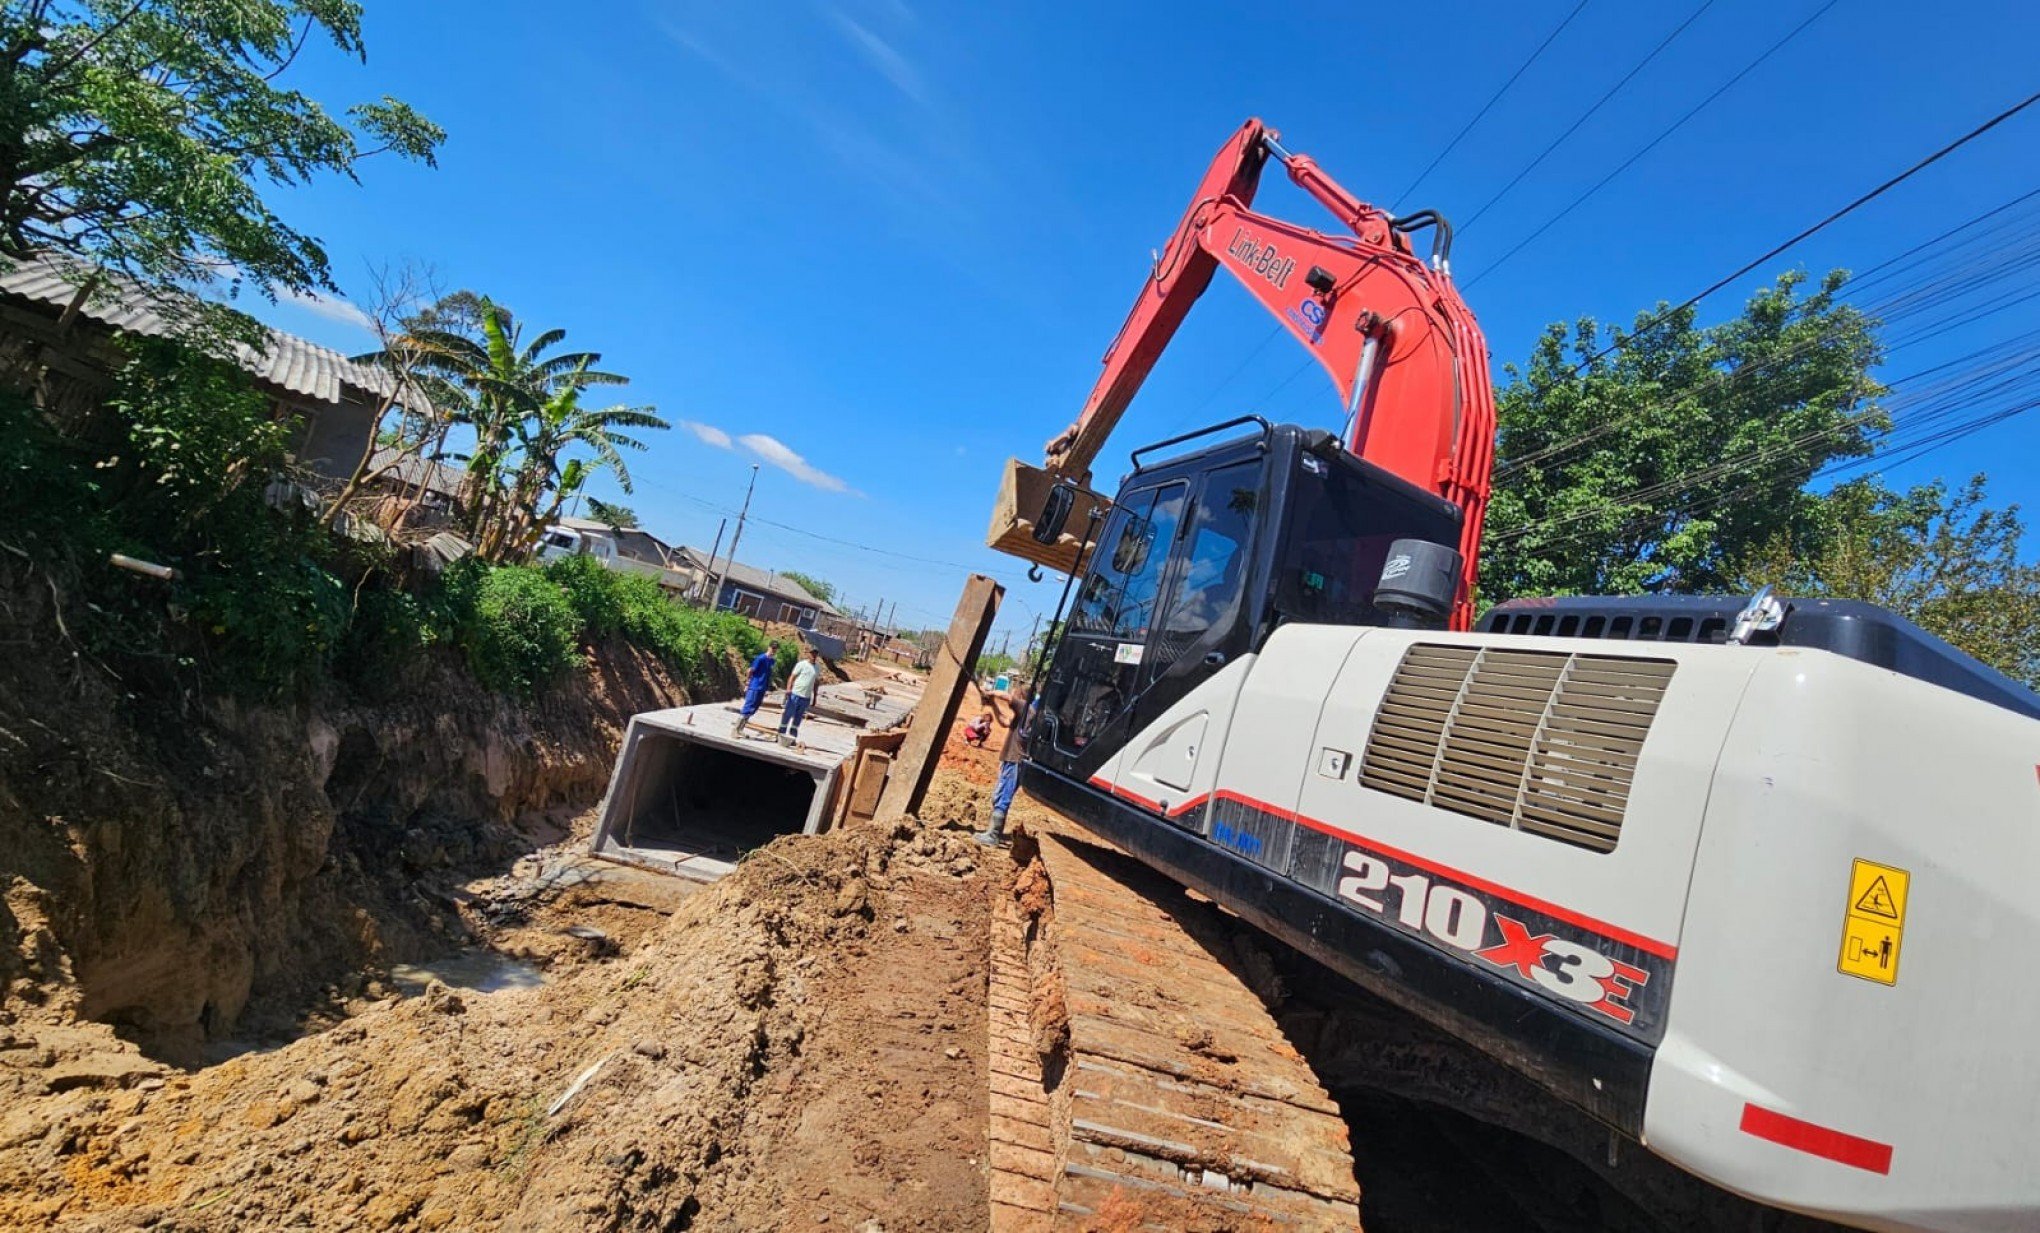
<svg viewBox="0 0 2040 1233">
<path fill-rule="evenodd" d="M 1761 659 L 1707 800 L 1646 1141 L 1865 1227 L 2032 1229 L 2040 723 L 1820 651 Z"/>
</svg>

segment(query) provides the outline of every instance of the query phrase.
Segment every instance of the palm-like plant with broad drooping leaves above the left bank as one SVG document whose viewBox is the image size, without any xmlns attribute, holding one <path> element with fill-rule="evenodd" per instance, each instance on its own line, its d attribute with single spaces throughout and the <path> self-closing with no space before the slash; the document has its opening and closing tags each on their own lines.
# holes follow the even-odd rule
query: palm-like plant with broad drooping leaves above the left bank
<svg viewBox="0 0 2040 1233">
<path fill-rule="evenodd" d="M 630 378 L 596 367 L 598 351 L 553 353 L 563 329 L 530 341 L 522 333 L 508 308 L 461 292 L 422 312 L 404 339 L 457 404 L 449 425 L 473 431 L 463 506 L 488 559 L 528 551 L 594 472 L 614 472 L 630 492 L 622 451 L 645 443 L 626 433 L 669 427 L 649 406 L 581 406 L 588 388 Z M 577 451 L 588 457 L 569 457 Z"/>
</svg>

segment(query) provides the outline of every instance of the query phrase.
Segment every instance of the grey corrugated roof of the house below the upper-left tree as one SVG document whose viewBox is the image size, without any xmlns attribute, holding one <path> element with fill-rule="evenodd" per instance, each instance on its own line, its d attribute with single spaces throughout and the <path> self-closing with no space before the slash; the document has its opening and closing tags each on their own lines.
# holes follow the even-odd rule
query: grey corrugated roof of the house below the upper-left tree
<svg viewBox="0 0 2040 1233">
<path fill-rule="evenodd" d="M 0 272 L 0 292 L 65 308 L 78 296 L 86 272 L 82 265 L 57 257 L 41 257 Z M 135 335 L 161 339 L 177 333 L 177 323 L 165 316 L 147 292 L 118 274 L 102 274 L 102 278 L 108 280 L 108 286 L 94 292 L 80 306 L 80 314 Z M 343 390 L 349 386 L 375 398 L 386 396 L 392 388 L 390 374 L 384 369 L 355 363 L 330 347 L 308 343 L 277 329 L 269 329 L 267 351 L 237 347 L 237 353 L 241 365 L 255 380 L 320 402 L 341 402 Z"/>
</svg>

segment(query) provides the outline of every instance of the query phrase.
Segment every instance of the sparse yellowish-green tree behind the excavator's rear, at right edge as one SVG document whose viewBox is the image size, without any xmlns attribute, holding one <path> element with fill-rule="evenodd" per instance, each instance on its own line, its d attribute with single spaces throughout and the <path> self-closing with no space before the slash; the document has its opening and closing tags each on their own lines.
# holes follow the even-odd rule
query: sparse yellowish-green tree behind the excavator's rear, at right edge
<svg viewBox="0 0 2040 1233">
<path fill-rule="evenodd" d="M 2020 561 L 2018 506 L 1989 508 L 1985 478 L 1893 492 L 1852 480 L 1814 525 L 1750 553 L 1736 590 L 1869 600 L 2040 688 L 2040 565 Z"/>
</svg>

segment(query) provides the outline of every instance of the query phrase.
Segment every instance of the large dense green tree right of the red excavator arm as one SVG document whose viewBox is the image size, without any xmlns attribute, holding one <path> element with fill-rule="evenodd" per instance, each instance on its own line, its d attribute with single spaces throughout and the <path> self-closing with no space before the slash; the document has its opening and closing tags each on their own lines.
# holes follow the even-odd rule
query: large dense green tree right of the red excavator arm
<svg viewBox="0 0 2040 1233">
<path fill-rule="evenodd" d="M 1640 316 L 1605 355 L 1591 318 L 1548 327 L 1495 398 L 1481 598 L 1732 590 L 1758 545 L 1803 541 L 1807 480 L 1889 423 L 1877 323 L 1836 300 L 1842 278 L 1801 296 L 1785 274 L 1705 329 Z"/>
</svg>

